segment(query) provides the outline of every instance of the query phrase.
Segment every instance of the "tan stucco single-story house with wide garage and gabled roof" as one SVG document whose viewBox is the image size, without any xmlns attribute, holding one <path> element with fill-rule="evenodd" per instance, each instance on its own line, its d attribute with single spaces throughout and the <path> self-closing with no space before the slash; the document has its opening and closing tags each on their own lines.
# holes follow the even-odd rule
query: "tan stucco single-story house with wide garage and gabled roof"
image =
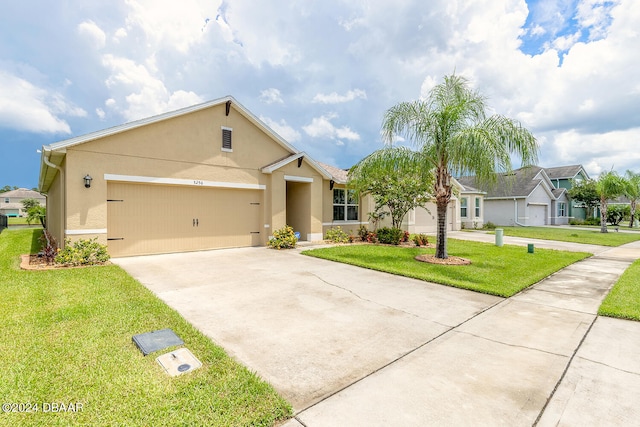
<svg viewBox="0 0 640 427">
<path fill-rule="evenodd" d="M 285 224 L 357 231 L 365 209 L 336 175 L 228 96 L 43 146 L 39 187 L 60 243 L 129 256 L 261 246 Z"/>
</svg>

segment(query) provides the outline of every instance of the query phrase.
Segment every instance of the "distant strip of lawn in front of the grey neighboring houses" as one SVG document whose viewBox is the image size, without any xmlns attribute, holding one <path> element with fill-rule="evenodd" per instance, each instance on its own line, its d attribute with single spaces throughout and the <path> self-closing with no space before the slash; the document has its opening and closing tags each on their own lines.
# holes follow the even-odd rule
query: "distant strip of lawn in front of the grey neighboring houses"
<svg viewBox="0 0 640 427">
<path fill-rule="evenodd" d="M 601 246 L 620 246 L 640 240 L 640 233 L 617 233 L 609 227 L 608 233 L 597 230 L 552 227 L 498 227 L 504 230 L 505 236 L 524 237 L 529 239 L 557 240 L 559 242 L 586 243 Z"/>
</svg>

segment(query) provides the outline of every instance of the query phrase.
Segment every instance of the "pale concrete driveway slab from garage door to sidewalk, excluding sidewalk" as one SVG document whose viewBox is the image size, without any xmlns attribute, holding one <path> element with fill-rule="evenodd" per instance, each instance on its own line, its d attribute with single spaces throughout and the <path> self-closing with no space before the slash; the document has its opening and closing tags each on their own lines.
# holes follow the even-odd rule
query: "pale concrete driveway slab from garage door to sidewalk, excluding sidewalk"
<svg viewBox="0 0 640 427">
<path fill-rule="evenodd" d="M 502 298 L 266 248 L 115 259 L 296 412 Z"/>
</svg>

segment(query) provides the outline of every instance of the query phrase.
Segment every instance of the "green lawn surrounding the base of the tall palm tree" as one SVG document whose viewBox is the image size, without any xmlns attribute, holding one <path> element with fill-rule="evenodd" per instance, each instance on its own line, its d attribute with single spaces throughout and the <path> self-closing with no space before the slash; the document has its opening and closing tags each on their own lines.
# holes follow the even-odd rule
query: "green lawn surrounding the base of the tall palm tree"
<svg viewBox="0 0 640 427">
<path fill-rule="evenodd" d="M 428 282 L 509 297 L 576 261 L 585 252 L 565 252 L 465 240 L 448 240 L 449 255 L 471 260 L 471 265 L 447 266 L 419 262 L 416 255 L 434 254 L 435 249 L 378 245 L 344 245 L 312 249 L 305 255 L 413 277 Z"/>
</svg>

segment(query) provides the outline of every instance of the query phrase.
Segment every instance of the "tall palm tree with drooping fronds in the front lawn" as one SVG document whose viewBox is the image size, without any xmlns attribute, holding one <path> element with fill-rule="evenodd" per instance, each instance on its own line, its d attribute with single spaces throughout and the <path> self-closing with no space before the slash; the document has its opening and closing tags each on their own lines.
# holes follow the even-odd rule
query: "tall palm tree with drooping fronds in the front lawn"
<svg viewBox="0 0 640 427">
<path fill-rule="evenodd" d="M 511 154 L 522 165 L 537 162 L 538 144 L 520 123 L 501 115 L 487 116 L 485 98 L 457 75 L 445 76 L 424 100 L 402 102 L 385 113 L 382 137 L 392 144 L 396 136 L 411 141 L 422 168 L 435 180 L 438 228 L 436 257 L 447 258 L 447 206 L 451 177 L 474 174 L 478 182 L 496 181 L 497 172 L 509 172 Z"/>
</svg>

